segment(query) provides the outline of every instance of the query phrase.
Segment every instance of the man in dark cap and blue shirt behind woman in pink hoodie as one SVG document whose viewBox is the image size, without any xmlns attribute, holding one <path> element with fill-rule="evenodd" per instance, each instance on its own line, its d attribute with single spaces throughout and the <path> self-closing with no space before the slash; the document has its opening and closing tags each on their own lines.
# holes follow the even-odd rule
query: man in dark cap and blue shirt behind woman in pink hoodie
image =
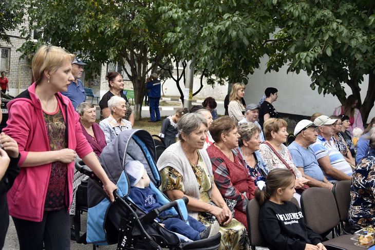
<svg viewBox="0 0 375 250">
<path fill-rule="evenodd" d="M 80 80 L 84 69 L 83 65 L 87 65 L 82 62 L 78 57 L 74 58 L 71 63 L 71 74 L 74 76 L 74 81 L 70 82 L 68 90 L 66 92 L 61 92 L 67 98 L 70 99 L 71 104 L 73 104 L 74 110 L 80 103 L 86 102 L 86 92 L 82 81 Z"/>
</svg>

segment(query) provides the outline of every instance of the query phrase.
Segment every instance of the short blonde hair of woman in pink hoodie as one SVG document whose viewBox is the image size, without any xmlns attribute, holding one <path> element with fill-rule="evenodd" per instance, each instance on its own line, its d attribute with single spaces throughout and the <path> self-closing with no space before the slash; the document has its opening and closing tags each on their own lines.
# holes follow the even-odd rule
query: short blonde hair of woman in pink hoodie
<svg viewBox="0 0 375 250">
<path fill-rule="evenodd" d="M 35 84 L 39 84 L 43 78 L 44 71 L 54 73 L 58 68 L 63 66 L 67 61 L 70 63 L 74 60 L 74 55 L 70 54 L 63 48 L 56 46 L 43 45 L 36 51 L 32 63 L 32 75 Z"/>
</svg>

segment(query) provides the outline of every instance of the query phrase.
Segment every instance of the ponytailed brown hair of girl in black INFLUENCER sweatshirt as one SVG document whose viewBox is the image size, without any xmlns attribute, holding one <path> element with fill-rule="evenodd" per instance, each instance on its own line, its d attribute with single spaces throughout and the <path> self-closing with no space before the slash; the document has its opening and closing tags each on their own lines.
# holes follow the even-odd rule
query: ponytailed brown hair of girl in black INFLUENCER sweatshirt
<svg viewBox="0 0 375 250">
<path fill-rule="evenodd" d="M 285 189 L 295 182 L 295 177 L 291 171 L 285 168 L 274 168 L 266 177 L 266 186 L 263 189 L 255 189 L 255 199 L 262 206 L 270 196 L 276 193 L 278 188 Z"/>
</svg>

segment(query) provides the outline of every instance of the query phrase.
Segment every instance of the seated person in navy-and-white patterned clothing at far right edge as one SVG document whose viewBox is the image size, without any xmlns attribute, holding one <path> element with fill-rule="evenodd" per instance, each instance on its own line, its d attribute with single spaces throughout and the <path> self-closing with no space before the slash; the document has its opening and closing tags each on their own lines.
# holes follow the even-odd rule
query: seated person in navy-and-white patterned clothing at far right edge
<svg viewBox="0 0 375 250">
<path fill-rule="evenodd" d="M 370 140 L 369 152 L 351 176 L 349 224 L 355 230 L 373 227 L 375 221 L 375 128 L 366 139 Z"/>
</svg>

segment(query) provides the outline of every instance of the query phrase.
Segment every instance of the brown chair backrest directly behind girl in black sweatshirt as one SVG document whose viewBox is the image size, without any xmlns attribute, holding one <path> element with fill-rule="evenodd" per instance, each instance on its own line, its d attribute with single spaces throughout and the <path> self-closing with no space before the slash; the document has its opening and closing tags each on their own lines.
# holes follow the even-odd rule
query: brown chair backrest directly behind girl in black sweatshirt
<svg viewBox="0 0 375 250">
<path fill-rule="evenodd" d="M 259 209 L 259 202 L 256 199 L 251 199 L 246 207 L 246 217 L 249 227 L 248 234 L 252 249 L 255 249 L 255 246 L 267 247 L 267 243 L 259 228 Z"/>
</svg>

